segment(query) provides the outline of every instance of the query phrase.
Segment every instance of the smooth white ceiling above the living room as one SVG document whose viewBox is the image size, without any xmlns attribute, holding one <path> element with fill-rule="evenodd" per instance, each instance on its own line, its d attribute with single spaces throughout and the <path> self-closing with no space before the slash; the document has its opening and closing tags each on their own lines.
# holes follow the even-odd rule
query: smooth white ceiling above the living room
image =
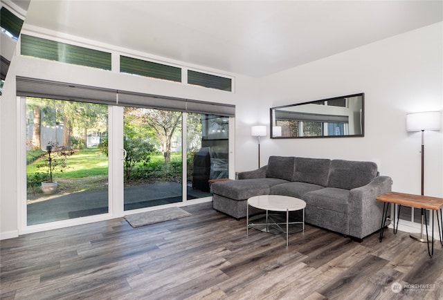
<svg viewBox="0 0 443 300">
<path fill-rule="evenodd" d="M 42 1 L 38 26 L 261 77 L 443 20 L 443 1 Z"/>
</svg>

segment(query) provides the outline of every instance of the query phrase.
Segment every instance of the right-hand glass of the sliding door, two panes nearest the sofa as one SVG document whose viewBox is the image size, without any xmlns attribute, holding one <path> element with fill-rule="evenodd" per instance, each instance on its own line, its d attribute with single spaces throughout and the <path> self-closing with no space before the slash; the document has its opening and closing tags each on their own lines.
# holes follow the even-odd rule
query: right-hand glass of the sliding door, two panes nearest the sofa
<svg viewBox="0 0 443 300">
<path fill-rule="evenodd" d="M 131 106 L 123 114 L 125 211 L 208 197 L 211 180 L 228 178 L 228 117 Z"/>
</svg>

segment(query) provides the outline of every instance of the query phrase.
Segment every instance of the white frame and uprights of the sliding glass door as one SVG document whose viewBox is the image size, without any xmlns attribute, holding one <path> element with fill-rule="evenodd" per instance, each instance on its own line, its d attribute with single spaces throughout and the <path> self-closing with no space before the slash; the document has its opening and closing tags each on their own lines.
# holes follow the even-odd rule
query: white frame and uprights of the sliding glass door
<svg viewBox="0 0 443 300">
<path fill-rule="evenodd" d="M 183 112 L 182 118 L 182 201 L 172 203 L 170 205 L 161 205 L 160 207 L 185 206 L 197 203 L 210 202 L 210 196 L 187 200 L 187 118 L 188 113 Z M 26 97 L 17 96 L 17 214 L 19 234 L 30 234 L 33 232 L 42 232 L 50 229 L 59 229 L 62 227 L 70 227 L 82 225 L 98 221 L 106 221 L 111 218 L 119 218 L 125 214 L 134 214 L 141 211 L 150 211 L 159 209 L 157 207 L 145 207 L 143 209 L 134 209 L 124 211 L 124 193 L 123 193 L 123 106 L 108 105 L 108 136 L 109 136 L 109 158 L 108 158 L 108 213 L 98 214 L 94 216 L 86 216 L 82 218 L 72 218 L 63 221 L 55 221 L 49 223 L 41 223 L 36 225 L 27 224 L 27 192 L 26 192 Z M 228 169 L 229 178 L 235 178 L 234 171 L 234 155 L 235 146 L 235 117 L 229 117 L 229 142 L 228 142 Z"/>
</svg>

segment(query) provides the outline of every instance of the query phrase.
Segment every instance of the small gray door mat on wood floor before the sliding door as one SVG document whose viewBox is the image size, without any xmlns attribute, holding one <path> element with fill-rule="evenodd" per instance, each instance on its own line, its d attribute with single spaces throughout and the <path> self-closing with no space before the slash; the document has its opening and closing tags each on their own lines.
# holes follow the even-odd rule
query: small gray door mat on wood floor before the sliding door
<svg viewBox="0 0 443 300">
<path fill-rule="evenodd" d="M 145 225 L 161 223 L 165 221 L 175 220 L 177 218 L 184 218 L 186 216 L 192 216 L 192 214 L 184 211 L 179 207 L 169 207 L 152 212 L 141 212 L 139 214 L 129 214 L 125 216 L 125 220 L 132 227 L 141 227 Z"/>
</svg>

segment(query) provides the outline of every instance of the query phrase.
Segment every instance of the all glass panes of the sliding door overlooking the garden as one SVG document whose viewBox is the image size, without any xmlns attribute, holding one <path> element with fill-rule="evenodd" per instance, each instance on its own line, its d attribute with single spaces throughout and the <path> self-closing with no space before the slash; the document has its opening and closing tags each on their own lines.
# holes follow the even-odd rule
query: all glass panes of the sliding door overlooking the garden
<svg viewBox="0 0 443 300">
<path fill-rule="evenodd" d="M 27 225 L 109 212 L 109 147 L 120 147 L 109 144 L 109 107 L 26 98 Z M 123 203 L 116 205 L 123 211 L 208 197 L 211 180 L 228 178 L 229 117 L 122 111 Z"/>
</svg>

